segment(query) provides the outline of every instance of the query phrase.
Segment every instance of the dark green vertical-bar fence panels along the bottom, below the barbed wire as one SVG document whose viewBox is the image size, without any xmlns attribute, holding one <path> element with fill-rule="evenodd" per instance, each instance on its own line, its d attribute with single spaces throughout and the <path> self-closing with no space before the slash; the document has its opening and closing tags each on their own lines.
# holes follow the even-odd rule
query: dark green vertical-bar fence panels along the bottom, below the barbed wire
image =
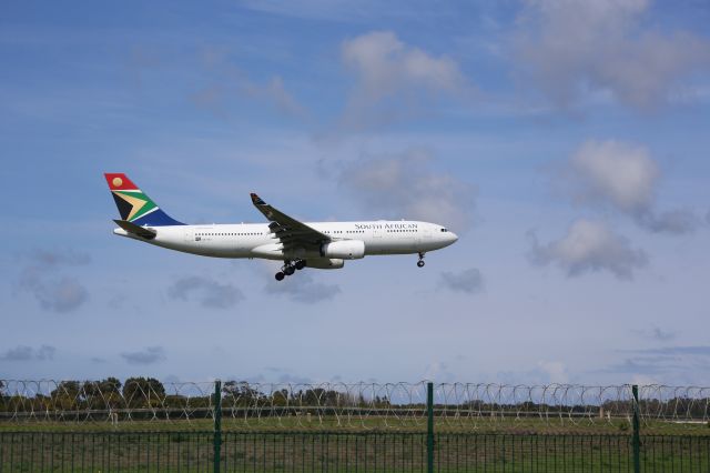
<svg viewBox="0 0 710 473">
<path fill-rule="evenodd" d="M 420 432 L 1 432 L 1 472 L 427 472 Z M 629 435 L 445 433 L 436 472 L 632 472 Z M 641 436 L 641 472 L 710 472 L 709 436 Z M 215 469 L 215 465 L 217 470 Z"/>
</svg>

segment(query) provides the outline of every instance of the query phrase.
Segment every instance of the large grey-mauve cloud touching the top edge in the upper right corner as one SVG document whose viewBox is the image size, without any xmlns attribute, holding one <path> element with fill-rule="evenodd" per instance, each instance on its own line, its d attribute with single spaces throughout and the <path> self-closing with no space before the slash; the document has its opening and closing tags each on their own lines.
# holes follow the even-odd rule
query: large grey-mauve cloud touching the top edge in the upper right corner
<svg viewBox="0 0 710 473">
<path fill-rule="evenodd" d="M 669 102 L 693 72 L 710 69 L 710 43 L 684 31 L 645 28 L 647 0 L 528 0 L 517 57 L 552 101 L 610 92 L 647 110 Z"/>
</svg>

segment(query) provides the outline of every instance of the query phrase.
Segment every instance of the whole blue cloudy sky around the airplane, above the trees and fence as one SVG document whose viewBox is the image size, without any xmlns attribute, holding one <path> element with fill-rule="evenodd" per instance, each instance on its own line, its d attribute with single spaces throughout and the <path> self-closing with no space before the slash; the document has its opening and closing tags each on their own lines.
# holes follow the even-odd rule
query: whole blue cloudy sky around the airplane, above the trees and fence
<svg viewBox="0 0 710 473">
<path fill-rule="evenodd" d="M 707 385 L 702 1 L 10 2 L 0 378 Z M 111 234 L 420 219 L 458 243 L 277 283 Z M 185 289 L 186 288 L 186 289 Z"/>
</svg>

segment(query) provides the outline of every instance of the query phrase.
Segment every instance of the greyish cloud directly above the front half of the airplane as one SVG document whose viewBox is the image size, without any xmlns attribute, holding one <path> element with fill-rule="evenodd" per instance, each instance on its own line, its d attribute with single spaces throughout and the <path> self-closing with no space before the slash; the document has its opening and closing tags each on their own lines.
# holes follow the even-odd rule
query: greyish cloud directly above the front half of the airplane
<svg viewBox="0 0 710 473">
<path fill-rule="evenodd" d="M 422 149 L 369 157 L 349 163 L 339 182 L 363 208 L 383 212 L 381 218 L 437 222 L 466 231 L 476 207 L 475 187 L 434 170 L 433 161 Z"/>
</svg>

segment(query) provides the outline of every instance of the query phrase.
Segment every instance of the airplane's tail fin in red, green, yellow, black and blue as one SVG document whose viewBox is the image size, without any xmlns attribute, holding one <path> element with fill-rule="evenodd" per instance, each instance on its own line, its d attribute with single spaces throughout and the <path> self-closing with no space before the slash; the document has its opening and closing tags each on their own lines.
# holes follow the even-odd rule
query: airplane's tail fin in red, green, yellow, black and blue
<svg viewBox="0 0 710 473">
<path fill-rule="evenodd" d="M 103 175 L 122 221 L 138 227 L 184 225 L 163 212 L 128 175 L 120 172 L 106 172 Z"/>
</svg>

